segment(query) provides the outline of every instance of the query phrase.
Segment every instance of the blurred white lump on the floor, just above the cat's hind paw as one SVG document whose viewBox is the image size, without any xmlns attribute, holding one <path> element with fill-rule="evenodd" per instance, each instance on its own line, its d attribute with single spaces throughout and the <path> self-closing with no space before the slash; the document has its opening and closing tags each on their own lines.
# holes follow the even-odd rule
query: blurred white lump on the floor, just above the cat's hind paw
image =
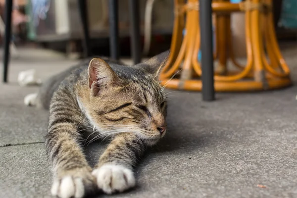
<svg viewBox="0 0 297 198">
<path fill-rule="evenodd" d="M 18 74 L 17 81 L 20 86 L 40 85 L 41 80 L 37 78 L 35 69 L 22 71 Z"/>
</svg>

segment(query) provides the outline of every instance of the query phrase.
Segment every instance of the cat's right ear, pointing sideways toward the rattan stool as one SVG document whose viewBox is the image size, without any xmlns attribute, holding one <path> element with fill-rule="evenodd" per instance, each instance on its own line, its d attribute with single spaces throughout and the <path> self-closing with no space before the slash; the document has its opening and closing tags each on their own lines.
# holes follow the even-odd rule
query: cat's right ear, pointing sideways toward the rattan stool
<svg viewBox="0 0 297 198">
<path fill-rule="evenodd" d="M 164 51 L 158 55 L 149 58 L 143 63 L 135 65 L 136 68 L 144 69 L 148 74 L 153 75 L 155 78 L 159 77 L 159 74 L 163 67 L 166 65 L 169 58 L 170 50 Z"/>
</svg>

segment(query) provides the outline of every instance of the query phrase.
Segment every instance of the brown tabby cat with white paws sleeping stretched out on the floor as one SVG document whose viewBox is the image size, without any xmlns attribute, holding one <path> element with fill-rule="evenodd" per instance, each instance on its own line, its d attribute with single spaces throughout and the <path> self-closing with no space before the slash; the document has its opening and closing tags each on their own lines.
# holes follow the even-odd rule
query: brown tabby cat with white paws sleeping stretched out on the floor
<svg viewBox="0 0 297 198">
<path fill-rule="evenodd" d="M 168 56 L 169 50 L 134 66 L 92 58 L 26 97 L 27 105 L 49 109 L 52 196 L 83 198 L 98 189 L 113 194 L 135 186 L 137 161 L 166 133 L 167 102 L 158 77 Z M 94 168 L 82 150 L 90 135 L 110 138 Z"/>
</svg>

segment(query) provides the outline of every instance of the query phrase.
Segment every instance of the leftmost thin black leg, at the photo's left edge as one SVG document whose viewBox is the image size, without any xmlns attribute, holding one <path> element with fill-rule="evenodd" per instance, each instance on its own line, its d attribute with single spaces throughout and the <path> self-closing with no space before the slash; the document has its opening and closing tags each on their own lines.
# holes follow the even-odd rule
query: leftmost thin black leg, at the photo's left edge
<svg viewBox="0 0 297 198">
<path fill-rule="evenodd" d="M 12 0 L 5 1 L 5 35 L 4 35 L 4 52 L 3 52 L 3 82 L 7 83 L 8 64 L 9 64 L 9 44 L 11 38 L 11 12 L 12 12 Z"/>
</svg>

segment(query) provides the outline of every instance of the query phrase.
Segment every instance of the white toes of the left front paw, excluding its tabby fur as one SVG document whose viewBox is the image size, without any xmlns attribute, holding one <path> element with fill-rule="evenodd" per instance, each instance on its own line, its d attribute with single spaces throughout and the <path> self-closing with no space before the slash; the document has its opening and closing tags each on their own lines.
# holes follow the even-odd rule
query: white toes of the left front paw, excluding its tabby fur
<svg viewBox="0 0 297 198">
<path fill-rule="evenodd" d="M 51 195 L 59 198 L 83 198 L 85 187 L 82 178 L 66 176 L 53 182 Z"/>
</svg>

